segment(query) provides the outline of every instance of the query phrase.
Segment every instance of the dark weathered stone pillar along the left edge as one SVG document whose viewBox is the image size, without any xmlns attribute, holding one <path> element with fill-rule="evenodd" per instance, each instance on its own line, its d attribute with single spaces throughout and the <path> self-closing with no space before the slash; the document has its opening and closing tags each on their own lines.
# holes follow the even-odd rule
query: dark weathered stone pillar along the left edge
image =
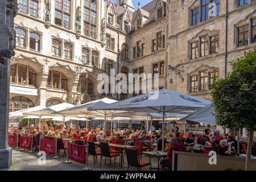
<svg viewBox="0 0 256 182">
<path fill-rule="evenodd" d="M 11 147 L 8 146 L 10 59 L 15 55 L 14 16 L 18 5 L 14 0 L 0 0 L 0 168 L 11 165 Z"/>
</svg>

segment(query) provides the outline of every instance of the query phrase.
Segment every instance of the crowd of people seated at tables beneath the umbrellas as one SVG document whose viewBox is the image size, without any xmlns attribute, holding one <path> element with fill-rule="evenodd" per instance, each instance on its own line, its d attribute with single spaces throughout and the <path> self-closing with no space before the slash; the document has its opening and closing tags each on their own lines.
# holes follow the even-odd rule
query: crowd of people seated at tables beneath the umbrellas
<svg viewBox="0 0 256 182">
<path fill-rule="evenodd" d="M 154 129 L 154 130 L 153 130 Z M 89 140 L 93 138 L 94 142 L 112 142 L 113 139 L 124 139 L 126 145 L 135 145 L 137 140 L 142 140 L 144 147 L 147 147 L 147 150 L 152 150 L 155 148 L 158 143 L 162 143 L 162 130 L 155 130 L 154 127 L 151 127 L 149 133 L 146 130 L 139 129 L 113 129 L 108 130 L 103 127 L 100 129 L 86 129 L 80 127 L 50 127 L 46 131 L 35 129 L 34 127 L 22 129 L 15 128 L 11 131 L 10 134 L 21 135 L 21 136 L 31 136 L 37 135 L 38 138 L 63 138 L 71 140 Z M 150 140 L 152 144 L 144 142 L 145 140 Z M 175 127 L 171 131 L 166 131 L 164 133 L 164 141 L 166 142 L 164 146 L 164 151 L 167 152 L 168 159 L 161 162 L 163 168 L 169 168 L 172 163 L 172 151 L 190 151 L 193 146 L 205 146 L 208 152 L 214 150 L 219 155 L 225 156 L 235 156 L 240 152 L 237 152 L 237 140 L 234 138 L 232 133 L 229 134 L 212 134 L 209 128 L 203 131 L 203 134 L 194 134 L 189 133 L 185 135 L 179 130 L 178 127 Z M 158 148 L 162 150 L 162 148 Z M 204 152 L 201 152 L 204 153 Z M 204 153 L 207 154 L 207 153 Z"/>
</svg>

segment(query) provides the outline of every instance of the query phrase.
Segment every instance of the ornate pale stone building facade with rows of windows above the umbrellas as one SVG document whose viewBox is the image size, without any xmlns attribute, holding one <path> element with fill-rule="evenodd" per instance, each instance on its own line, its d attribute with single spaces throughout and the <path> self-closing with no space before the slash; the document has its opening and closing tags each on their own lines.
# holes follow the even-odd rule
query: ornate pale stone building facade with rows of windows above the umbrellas
<svg viewBox="0 0 256 182">
<path fill-rule="evenodd" d="M 11 111 L 138 94 L 97 92 L 97 76 L 113 68 L 159 73 L 159 88 L 210 98 L 210 82 L 256 42 L 255 0 L 153 0 L 136 11 L 131 0 L 18 3 Z"/>
</svg>

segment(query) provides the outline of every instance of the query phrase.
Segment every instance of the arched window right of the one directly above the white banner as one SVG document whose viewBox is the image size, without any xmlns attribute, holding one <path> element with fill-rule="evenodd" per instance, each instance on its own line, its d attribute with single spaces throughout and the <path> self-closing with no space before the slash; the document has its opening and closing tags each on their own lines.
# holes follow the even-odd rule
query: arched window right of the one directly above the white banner
<svg viewBox="0 0 256 182">
<path fill-rule="evenodd" d="M 68 90 L 68 78 L 63 73 L 49 71 L 47 87 L 53 90 Z"/>
</svg>

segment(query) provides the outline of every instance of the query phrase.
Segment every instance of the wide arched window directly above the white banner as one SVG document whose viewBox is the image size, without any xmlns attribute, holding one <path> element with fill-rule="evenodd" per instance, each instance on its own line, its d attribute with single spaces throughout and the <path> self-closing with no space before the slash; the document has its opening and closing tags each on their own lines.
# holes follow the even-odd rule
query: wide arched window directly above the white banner
<svg viewBox="0 0 256 182">
<path fill-rule="evenodd" d="M 24 64 L 11 65 L 10 82 L 36 86 L 36 72 Z"/>
</svg>

